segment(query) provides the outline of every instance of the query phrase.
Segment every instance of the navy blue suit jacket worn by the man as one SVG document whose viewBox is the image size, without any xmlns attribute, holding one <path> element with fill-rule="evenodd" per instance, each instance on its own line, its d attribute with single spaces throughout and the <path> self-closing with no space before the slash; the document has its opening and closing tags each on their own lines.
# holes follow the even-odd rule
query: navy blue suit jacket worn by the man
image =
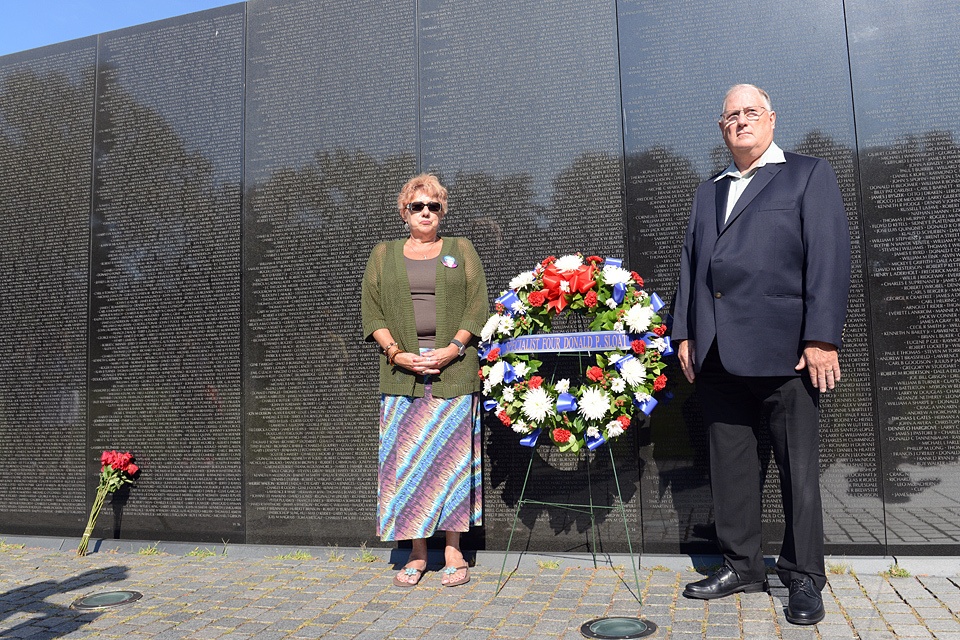
<svg viewBox="0 0 960 640">
<path fill-rule="evenodd" d="M 827 161 L 784 155 L 757 170 L 726 224 L 730 180 L 697 187 L 671 332 L 695 340 L 695 371 L 714 339 L 739 376 L 799 375 L 806 341 L 840 346 L 850 287 L 843 198 Z"/>
</svg>

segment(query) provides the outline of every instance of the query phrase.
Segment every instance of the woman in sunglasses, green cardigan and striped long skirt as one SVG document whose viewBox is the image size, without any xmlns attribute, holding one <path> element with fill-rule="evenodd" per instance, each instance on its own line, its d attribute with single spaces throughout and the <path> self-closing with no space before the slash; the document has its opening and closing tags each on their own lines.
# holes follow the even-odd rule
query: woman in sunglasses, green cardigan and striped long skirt
<svg viewBox="0 0 960 640">
<path fill-rule="evenodd" d="M 427 538 L 446 532 L 441 584 L 470 580 L 460 533 L 481 524 L 479 359 L 473 337 L 487 320 L 483 266 L 466 238 L 441 237 L 447 190 L 421 174 L 397 207 L 409 237 L 373 248 L 363 274 L 365 340 L 380 358 L 377 534 L 413 541 L 393 579 L 420 582 Z"/>
</svg>

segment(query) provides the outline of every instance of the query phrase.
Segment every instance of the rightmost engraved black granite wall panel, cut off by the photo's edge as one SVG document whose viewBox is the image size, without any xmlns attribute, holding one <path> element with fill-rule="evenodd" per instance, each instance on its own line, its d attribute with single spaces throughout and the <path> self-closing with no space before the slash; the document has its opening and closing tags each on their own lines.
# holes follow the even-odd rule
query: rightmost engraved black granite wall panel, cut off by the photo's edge
<svg viewBox="0 0 960 640">
<path fill-rule="evenodd" d="M 847 2 L 890 554 L 960 551 L 960 6 Z"/>
</svg>

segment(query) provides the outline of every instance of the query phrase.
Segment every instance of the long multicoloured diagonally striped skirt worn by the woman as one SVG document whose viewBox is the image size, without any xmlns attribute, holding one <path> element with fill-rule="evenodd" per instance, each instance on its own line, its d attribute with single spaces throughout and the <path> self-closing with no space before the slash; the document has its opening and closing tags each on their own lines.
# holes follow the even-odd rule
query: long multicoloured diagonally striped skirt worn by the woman
<svg viewBox="0 0 960 640">
<path fill-rule="evenodd" d="M 445 400 L 383 395 L 377 535 L 428 538 L 482 524 L 477 394 Z"/>
</svg>

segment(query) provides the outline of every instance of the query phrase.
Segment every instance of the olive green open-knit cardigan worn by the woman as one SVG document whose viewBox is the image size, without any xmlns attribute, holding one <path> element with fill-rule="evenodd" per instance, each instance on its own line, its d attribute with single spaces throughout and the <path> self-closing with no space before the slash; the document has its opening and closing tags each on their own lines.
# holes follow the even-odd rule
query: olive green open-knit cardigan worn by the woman
<svg viewBox="0 0 960 640">
<path fill-rule="evenodd" d="M 413 314 L 410 281 L 403 259 L 406 239 L 381 242 L 370 252 L 363 274 L 360 314 L 363 339 L 373 341 L 373 332 L 387 328 L 404 351 L 417 352 L 417 325 Z M 453 256 L 455 267 L 444 265 L 443 257 Z M 483 265 L 466 238 L 443 236 L 437 260 L 437 346 L 443 347 L 466 329 L 480 335 L 489 317 L 487 282 Z M 438 398 L 453 398 L 480 390 L 477 371 L 480 360 L 475 340 L 467 345 L 462 358 L 451 362 L 439 375 L 431 377 L 431 393 Z M 423 376 L 400 366 L 387 364 L 380 354 L 380 392 L 388 395 L 423 397 Z"/>
</svg>

